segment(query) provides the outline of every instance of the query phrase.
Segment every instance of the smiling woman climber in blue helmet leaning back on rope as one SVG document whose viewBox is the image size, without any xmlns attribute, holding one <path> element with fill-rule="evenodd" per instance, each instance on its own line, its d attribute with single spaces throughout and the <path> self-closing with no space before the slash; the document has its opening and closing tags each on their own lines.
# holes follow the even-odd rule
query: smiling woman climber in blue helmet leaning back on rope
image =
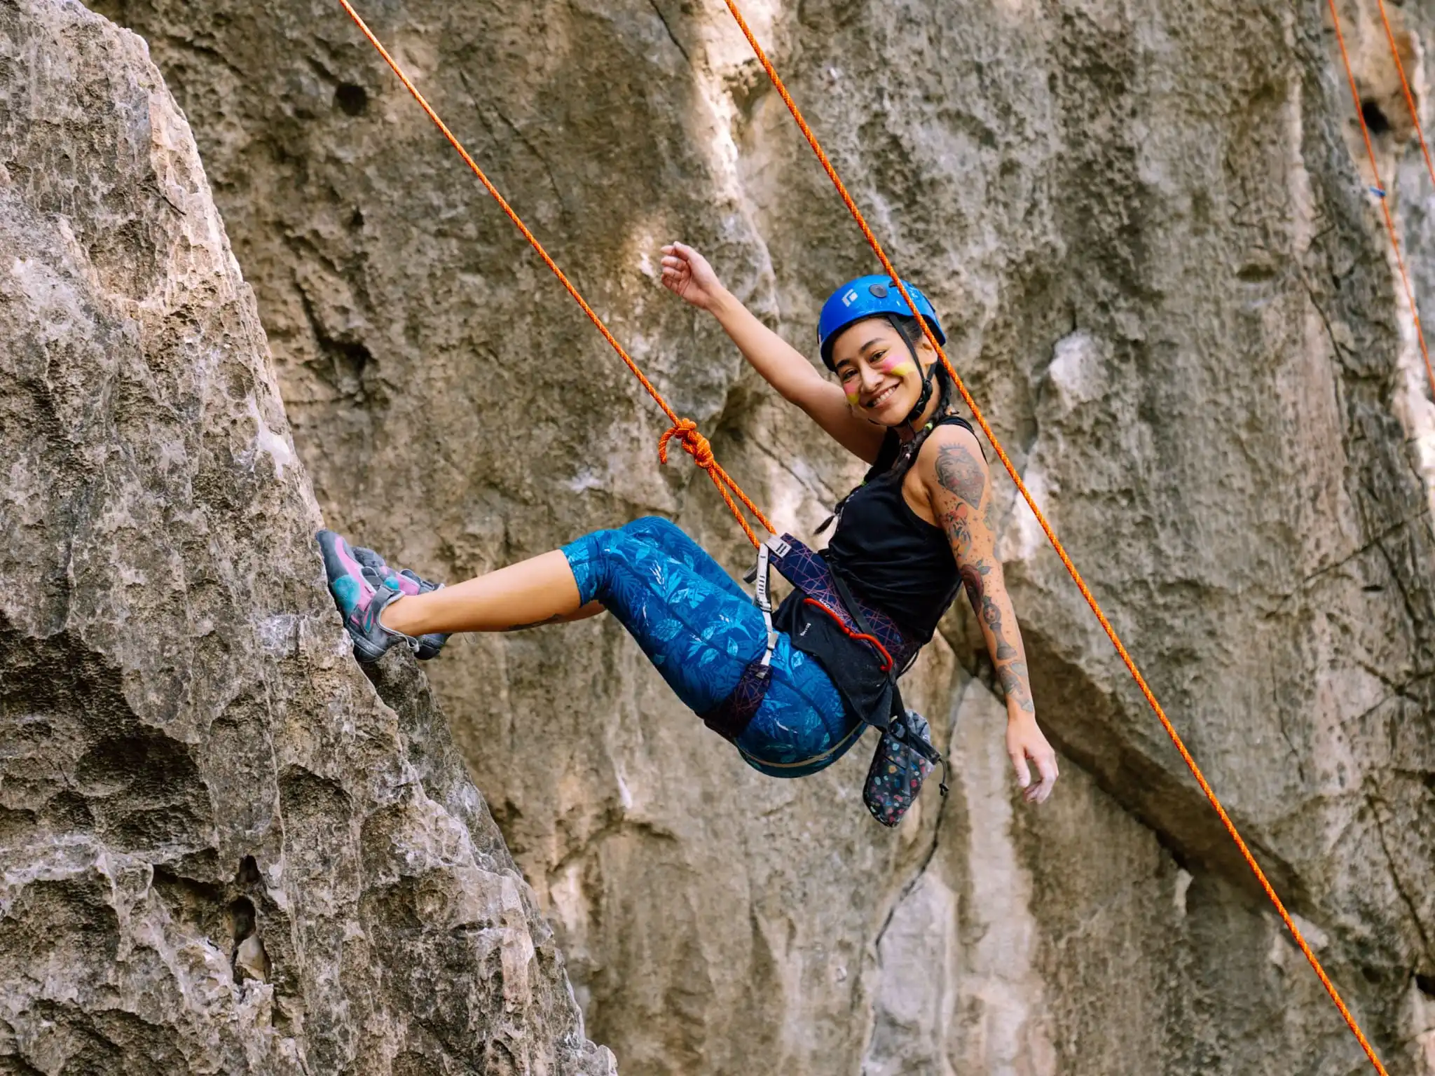
<svg viewBox="0 0 1435 1076">
<path fill-rule="evenodd" d="M 329 587 L 357 659 L 375 661 L 399 641 L 428 659 L 449 633 L 512 631 L 607 610 L 679 699 L 763 773 L 814 773 L 841 758 L 867 723 L 885 729 L 868 806 L 891 825 L 928 760 L 940 758 L 926 722 L 901 706 L 897 676 L 964 585 L 1006 692 L 1006 747 L 1017 782 L 1029 802 L 1045 802 L 1056 755 L 1036 725 L 1022 636 L 994 554 L 986 461 L 971 428 L 950 410 L 947 374 L 898 290 L 888 277 L 860 277 L 822 306 L 818 341 L 832 384 L 733 298 L 697 251 L 674 242 L 663 255 L 663 284 L 710 313 L 784 399 L 871 465 L 837 506 L 827 549 L 812 554 L 788 535 L 769 539 L 759 549 L 755 603 L 666 519 L 596 531 L 452 587 L 396 571 L 321 531 Z M 907 290 L 944 341 L 926 296 Z M 796 584 L 771 617 L 769 549 Z"/>
</svg>

